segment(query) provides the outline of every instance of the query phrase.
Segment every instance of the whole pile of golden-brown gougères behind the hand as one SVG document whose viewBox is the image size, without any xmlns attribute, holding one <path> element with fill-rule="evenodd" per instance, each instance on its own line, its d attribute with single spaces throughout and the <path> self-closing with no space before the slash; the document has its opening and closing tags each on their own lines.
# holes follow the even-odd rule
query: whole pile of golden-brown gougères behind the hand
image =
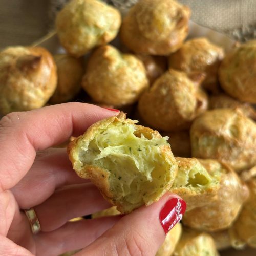
<svg viewBox="0 0 256 256">
<path fill-rule="evenodd" d="M 123 18 L 99 0 L 71 0 L 56 18 L 66 54 L 0 52 L 0 112 L 78 98 L 124 110 L 169 137 L 188 177 L 171 189 L 187 202 L 182 226 L 157 255 L 256 248 L 256 41 L 227 53 L 207 38 L 185 41 L 189 18 L 174 0 L 140 0 Z"/>
</svg>

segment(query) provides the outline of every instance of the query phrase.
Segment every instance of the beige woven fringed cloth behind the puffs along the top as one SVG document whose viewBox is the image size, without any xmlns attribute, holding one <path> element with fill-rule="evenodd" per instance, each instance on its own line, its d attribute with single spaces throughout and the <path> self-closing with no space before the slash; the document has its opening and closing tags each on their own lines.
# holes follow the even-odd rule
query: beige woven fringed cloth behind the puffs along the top
<svg viewBox="0 0 256 256">
<path fill-rule="evenodd" d="M 52 20 L 68 0 L 50 0 Z M 125 12 L 138 0 L 103 0 Z M 192 9 L 191 19 L 205 27 L 223 32 L 236 40 L 256 38 L 255 0 L 179 0 Z"/>
</svg>

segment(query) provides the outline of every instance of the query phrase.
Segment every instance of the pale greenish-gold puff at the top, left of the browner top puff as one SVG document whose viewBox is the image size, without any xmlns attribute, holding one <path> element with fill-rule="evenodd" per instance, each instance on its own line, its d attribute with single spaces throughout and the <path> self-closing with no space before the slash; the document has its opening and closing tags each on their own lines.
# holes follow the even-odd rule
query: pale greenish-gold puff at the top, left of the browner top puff
<svg viewBox="0 0 256 256">
<path fill-rule="evenodd" d="M 72 0 L 56 18 L 61 45 L 76 57 L 110 42 L 120 25 L 119 11 L 98 0 Z"/>
</svg>

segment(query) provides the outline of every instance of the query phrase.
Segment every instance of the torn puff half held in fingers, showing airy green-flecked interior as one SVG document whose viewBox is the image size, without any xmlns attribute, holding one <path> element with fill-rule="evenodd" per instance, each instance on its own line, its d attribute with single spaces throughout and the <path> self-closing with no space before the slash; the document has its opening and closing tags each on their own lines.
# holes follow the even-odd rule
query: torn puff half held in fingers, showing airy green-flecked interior
<svg viewBox="0 0 256 256">
<path fill-rule="evenodd" d="M 121 212 L 159 199 L 177 174 L 167 137 L 135 123 L 122 115 L 100 121 L 69 148 L 77 174 Z"/>
</svg>

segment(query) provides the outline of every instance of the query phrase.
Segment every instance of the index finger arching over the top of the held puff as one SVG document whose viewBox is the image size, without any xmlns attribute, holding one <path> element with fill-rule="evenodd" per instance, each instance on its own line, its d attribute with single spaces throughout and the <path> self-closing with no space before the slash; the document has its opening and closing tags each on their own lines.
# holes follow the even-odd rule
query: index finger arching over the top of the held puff
<svg viewBox="0 0 256 256">
<path fill-rule="evenodd" d="M 10 189 L 25 176 L 37 150 L 82 134 L 91 124 L 117 114 L 73 102 L 4 116 L 0 120 L 0 191 Z"/>
</svg>

